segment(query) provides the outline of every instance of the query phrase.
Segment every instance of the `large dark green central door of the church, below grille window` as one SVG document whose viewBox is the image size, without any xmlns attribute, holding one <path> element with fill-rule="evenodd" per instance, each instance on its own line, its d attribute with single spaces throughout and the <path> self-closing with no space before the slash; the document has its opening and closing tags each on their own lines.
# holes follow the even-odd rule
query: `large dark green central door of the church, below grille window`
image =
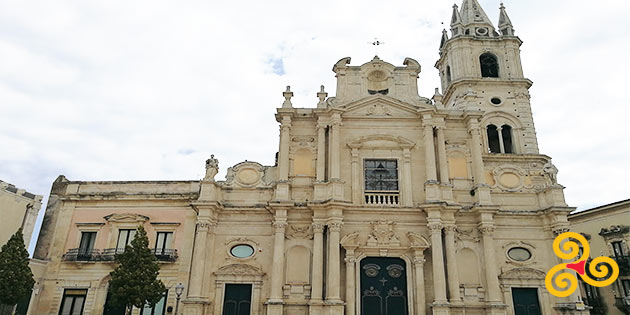
<svg viewBox="0 0 630 315">
<path fill-rule="evenodd" d="M 361 314 L 407 315 L 407 268 L 400 258 L 361 260 Z"/>
</svg>

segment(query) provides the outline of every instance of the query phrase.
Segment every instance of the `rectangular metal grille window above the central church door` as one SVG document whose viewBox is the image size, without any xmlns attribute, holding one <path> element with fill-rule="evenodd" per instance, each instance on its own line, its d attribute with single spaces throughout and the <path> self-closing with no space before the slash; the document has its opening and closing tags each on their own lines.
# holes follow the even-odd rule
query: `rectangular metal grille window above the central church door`
<svg viewBox="0 0 630 315">
<path fill-rule="evenodd" d="M 365 191 L 398 191 L 396 160 L 365 160 Z"/>
</svg>

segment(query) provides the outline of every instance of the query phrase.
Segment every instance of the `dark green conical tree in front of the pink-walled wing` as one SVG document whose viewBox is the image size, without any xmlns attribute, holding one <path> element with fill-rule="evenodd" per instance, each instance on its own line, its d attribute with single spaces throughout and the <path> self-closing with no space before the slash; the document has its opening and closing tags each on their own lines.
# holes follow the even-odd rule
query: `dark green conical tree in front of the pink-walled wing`
<svg viewBox="0 0 630 315">
<path fill-rule="evenodd" d="M 149 249 L 147 232 L 142 225 L 125 252 L 116 256 L 118 267 L 110 273 L 109 293 L 112 305 L 125 307 L 127 314 L 132 308 L 155 305 L 161 298 L 166 287 L 157 279 L 160 265 L 157 258 Z"/>
</svg>

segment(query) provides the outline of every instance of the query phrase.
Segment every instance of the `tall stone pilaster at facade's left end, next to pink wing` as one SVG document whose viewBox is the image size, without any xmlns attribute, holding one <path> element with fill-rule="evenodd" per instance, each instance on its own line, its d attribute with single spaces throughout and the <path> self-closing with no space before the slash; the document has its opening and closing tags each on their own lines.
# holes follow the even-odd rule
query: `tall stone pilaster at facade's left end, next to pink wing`
<svg viewBox="0 0 630 315">
<path fill-rule="evenodd" d="M 211 225 L 212 223 L 209 220 L 197 220 L 197 232 L 195 233 L 193 261 L 190 268 L 190 285 L 188 289 L 188 297 L 191 298 L 201 297 L 206 263 L 206 245 Z"/>
</svg>

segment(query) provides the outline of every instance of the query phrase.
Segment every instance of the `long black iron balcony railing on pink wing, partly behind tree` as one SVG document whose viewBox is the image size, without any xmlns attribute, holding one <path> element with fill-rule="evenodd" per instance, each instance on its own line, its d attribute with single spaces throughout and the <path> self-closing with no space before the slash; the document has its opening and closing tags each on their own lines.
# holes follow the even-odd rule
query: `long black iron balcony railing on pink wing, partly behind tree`
<svg viewBox="0 0 630 315">
<path fill-rule="evenodd" d="M 124 252 L 124 248 L 106 248 L 103 250 L 72 248 L 62 256 L 62 259 L 64 261 L 76 262 L 108 262 L 115 261 L 116 255 Z M 160 262 L 175 262 L 178 257 L 176 249 L 152 248 L 151 252 L 153 252 L 157 260 Z"/>
</svg>

